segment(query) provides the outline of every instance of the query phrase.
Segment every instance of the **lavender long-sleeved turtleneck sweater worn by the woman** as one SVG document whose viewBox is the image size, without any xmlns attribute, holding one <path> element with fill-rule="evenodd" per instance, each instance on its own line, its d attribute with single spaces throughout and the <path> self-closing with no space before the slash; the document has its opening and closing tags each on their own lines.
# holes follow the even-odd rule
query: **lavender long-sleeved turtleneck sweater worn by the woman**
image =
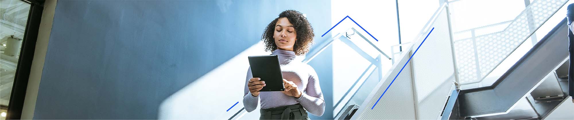
<svg viewBox="0 0 574 120">
<path fill-rule="evenodd" d="M 295 60 L 295 52 L 289 50 L 277 49 L 273 51 L 272 55 L 277 55 L 281 65 L 283 78 L 287 81 L 292 81 L 297 85 L 303 94 L 299 98 L 285 95 L 281 91 L 262 91 L 259 96 L 253 97 L 247 87 L 249 79 L 253 78 L 251 68 L 247 70 L 247 77 L 245 81 L 245 94 L 243 96 L 243 106 L 247 112 L 251 112 L 257 108 L 257 101 L 261 99 L 261 109 L 269 109 L 272 107 L 294 105 L 301 103 L 305 110 L 317 116 L 323 115 L 325 111 L 325 100 L 323 93 L 319 86 L 319 78 L 313 67 Z"/>
</svg>

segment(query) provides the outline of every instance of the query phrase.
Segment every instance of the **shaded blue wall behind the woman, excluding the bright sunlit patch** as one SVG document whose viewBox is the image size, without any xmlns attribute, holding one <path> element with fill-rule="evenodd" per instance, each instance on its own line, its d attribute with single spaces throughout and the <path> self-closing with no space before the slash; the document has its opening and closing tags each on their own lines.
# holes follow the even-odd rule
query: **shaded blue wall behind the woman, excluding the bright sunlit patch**
<svg viewBox="0 0 574 120">
<path fill-rule="evenodd" d="M 34 119 L 157 119 L 166 97 L 260 41 L 286 9 L 326 39 L 329 1 L 57 1 Z M 314 61 L 332 101 L 331 56 Z"/>
</svg>

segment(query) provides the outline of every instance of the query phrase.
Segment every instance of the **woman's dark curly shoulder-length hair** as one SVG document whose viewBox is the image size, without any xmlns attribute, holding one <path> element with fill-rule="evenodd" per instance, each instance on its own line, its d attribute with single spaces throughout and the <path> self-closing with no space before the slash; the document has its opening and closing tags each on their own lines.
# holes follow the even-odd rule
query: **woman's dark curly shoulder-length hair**
<svg viewBox="0 0 574 120">
<path fill-rule="evenodd" d="M 261 39 L 265 42 L 265 51 L 277 50 L 277 45 L 275 44 L 275 39 L 273 39 L 273 32 L 275 24 L 278 19 L 287 18 L 289 22 L 293 24 L 295 32 L 297 34 L 295 45 L 293 46 L 293 51 L 295 55 L 303 55 L 309 52 L 309 46 L 313 43 L 313 27 L 311 23 L 307 21 L 307 18 L 303 16 L 302 13 L 295 10 L 285 10 L 279 14 L 279 17 L 275 18 L 267 27 L 261 35 Z"/>
</svg>

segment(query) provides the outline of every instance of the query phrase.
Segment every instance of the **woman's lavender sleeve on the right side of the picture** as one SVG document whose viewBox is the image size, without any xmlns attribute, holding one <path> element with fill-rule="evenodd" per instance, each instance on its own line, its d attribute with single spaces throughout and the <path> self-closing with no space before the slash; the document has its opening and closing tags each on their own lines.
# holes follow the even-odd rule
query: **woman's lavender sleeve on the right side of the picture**
<svg viewBox="0 0 574 120">
<path fill-rule="evenodd" d="M 295 100 L 301 103 L 309 113 L 321 116 L 325 113 L 325 100 L 323 99 L 323 93 L 319 86 L 317 73 L 311 66 L 309 66 L 309 70 L 309 82 L 307 83 L 307 88 L 305 88 L 305 93 L 301 94 L 301 97 Z"/>
</svg>

